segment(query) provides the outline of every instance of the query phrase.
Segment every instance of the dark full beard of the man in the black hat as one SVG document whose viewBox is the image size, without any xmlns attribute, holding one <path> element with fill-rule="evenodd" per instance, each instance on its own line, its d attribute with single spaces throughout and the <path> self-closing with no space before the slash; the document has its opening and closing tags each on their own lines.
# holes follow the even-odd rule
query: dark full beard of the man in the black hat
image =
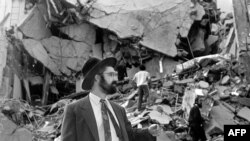
<svg viewBox="0 0 250 141">
<path fill-rule="evenodd" d="M 116 81 L 113 81 L 111 84 L 108 84 L 104 79 L 104 76 L 101 76 L 99 86 L 102 88 L 103 93 L 107 95 L 112 95 L 116 93 Z"/>
</svg>

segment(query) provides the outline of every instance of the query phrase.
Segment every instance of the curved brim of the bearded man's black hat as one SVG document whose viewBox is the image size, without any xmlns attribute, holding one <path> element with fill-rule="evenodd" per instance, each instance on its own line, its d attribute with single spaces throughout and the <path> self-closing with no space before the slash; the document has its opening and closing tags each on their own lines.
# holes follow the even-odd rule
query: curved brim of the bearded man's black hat
<svg viewBox="0 0 250 141">
<path fill-rule="evenodd" d="M 113 57 L 110 58 L 106 58 L 103 59 L 102 61 L 100 61 L 98 64 L 96 64 L 85 76 L 83 82 L 82 82 L 82 89 L 83 90 L 90 90 L 92 85 L 93 85 L 93 81 L 94 81 L 94 77 L 95 75 L 98 73 L 99 68 L 102 68 L 104 66 L 111 66 L 111 67 L 115 67 L 117 63 L 117 60 Z"/>
</svg>

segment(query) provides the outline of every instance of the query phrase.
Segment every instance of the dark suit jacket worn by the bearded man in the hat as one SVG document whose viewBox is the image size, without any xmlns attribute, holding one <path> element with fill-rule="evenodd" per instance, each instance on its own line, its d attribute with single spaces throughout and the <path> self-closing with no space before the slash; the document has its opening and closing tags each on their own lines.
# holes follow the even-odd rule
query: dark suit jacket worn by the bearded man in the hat
<svg viewBox="0 0 250 141">
<path fill-rule="evenodd" d="M 147 129 L 133 129 L 123 107 L 110 101 L 122 130 L 122 141 L 153 141 Z M 99 141 L 96 119 L 89 96 L 69 104 L 64 112 L 61 141 Z"/>
</svg>

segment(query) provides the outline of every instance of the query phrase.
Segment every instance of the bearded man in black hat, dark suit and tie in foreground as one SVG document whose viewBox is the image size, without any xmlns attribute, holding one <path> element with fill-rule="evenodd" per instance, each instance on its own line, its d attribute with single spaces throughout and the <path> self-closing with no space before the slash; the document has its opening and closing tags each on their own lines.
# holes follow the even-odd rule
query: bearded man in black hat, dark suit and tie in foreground
<svg viewBox="0 0 250 141">
<path fill-rule="evenodd" d="M 85 98 L 69 104 L 62 123 L 62 141 L 153 141 L 159 126 L 133 129 L 124 108 L 107 100 L 116 93 L 117 72 L 115 58 L 89 59 L 82 70 L 82 83 L 90 91 Z"/>
</svg>

